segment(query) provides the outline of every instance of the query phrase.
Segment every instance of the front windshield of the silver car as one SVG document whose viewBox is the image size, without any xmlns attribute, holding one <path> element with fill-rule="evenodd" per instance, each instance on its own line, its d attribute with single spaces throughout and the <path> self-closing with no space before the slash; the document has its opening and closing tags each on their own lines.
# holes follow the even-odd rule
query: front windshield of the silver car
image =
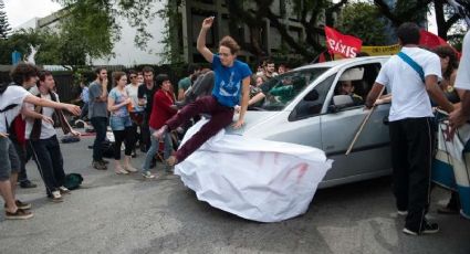
<svg viewBox="0 0 470 254">
<path fill-rule="evenodd" d="M 265 97 L 264 100 L 254 105 L 255 108 L 259 110 L 282 110 L 326 70 L 328 67 L 292 71 L 269 80 L 260 87 Z"/>
</svg>

